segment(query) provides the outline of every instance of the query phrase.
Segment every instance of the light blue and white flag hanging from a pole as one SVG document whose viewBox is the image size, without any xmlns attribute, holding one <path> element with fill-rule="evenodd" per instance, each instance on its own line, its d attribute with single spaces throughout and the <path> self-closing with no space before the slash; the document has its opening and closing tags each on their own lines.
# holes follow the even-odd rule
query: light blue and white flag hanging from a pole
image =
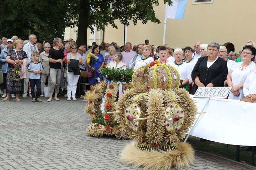
<svg viewBox="0 0 256 170">
<path fill-rule="evenodd" d="M 184 19 L 187 0 L 174 0 L 172 6 L 168 6 L 167 18 Z"/>
</svg>

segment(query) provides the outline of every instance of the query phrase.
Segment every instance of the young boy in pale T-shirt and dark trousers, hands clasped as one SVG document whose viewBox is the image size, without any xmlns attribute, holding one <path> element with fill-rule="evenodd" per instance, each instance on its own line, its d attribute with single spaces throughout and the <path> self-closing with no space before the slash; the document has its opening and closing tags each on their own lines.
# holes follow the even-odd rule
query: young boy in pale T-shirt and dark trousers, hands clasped
<svg viewBox="0 0 256 170">
<path fill-rule="evenodd" d="M 40 97 L 41 92 L 41 82 L 40 82 L 40 73 L 43 72 L 43 65 L 39 62 L 39 53 L 33 53 L 34 61 L 28 65 L 28 72 L 31 72 L 29 75 L 29 83 L 31 87 L 32 102 L 42 102 Z M 35 93 L 35 86 L 37 86 L 37 92 Z"/>
</svg>

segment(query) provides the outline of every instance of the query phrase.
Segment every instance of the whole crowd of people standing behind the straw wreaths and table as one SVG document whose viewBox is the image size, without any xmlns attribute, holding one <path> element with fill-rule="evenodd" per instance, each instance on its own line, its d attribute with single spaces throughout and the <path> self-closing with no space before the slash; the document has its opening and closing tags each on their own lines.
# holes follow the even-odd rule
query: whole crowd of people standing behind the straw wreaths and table
<svg viewBox="0 0 256 170">
<path fill-rule="evenodd" d="M 4 43 L 3 43 L 4 42 Z M 114 69 L 137 69 L 154 60 L 169 64 L 180 74 L 180 88 L 194 94 L 198 87 L 230 86 L 230 99 L 244 98 L 248 93 L 256 93 L 254 63 L 256 45 L 248 41 L 239 53 L 228 52 L 218 43 L 195 43 L 194 47 L 170 48 L 168 44 L 157 47 L 145 43 L 133 45 L 127 42 L 119 46 L 115 42 L 92 43 L 77 47 L 75 41 L 37 42 L 34 34 L 23 41 L 13 36 L 2 38 L 0 62 L 3 74 L 3 99 L 9 101 L 19 95 L 32 97 L 32 102 L 42 102 L 44 87 L 49 86 L 48 102 L 59 101 L 59 90 L 67 90 L 68 101 L 76 101 L 77 82 L 80 70 L 92 73 L 88 77 L 90 90 L 103 79 L 103 67 Z M 90 54 L 90 55 L 89 55 Z M 47 81 L 47 82 L 46 82 Z M 248 84 L 250 83 L 250 84 Z M 35 89 L 36 87 L 36 89 Z M 36 92 L 35 92 L 36 91 Z M 52 98 L 54 93 L 54 98 Z M 16 96 L 15 96 L 16 94 Z"/>
</svg>

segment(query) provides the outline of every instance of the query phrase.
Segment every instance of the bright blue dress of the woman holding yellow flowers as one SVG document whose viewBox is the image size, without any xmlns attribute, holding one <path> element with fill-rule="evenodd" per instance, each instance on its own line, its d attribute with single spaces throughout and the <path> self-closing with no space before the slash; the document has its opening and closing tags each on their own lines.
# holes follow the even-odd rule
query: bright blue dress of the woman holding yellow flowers
<svg viewBox="0 0 256 170">
<path fill-rule="evenodd" d="M 96 79 L 97 77 L 100 78 L 100 81 L 102 80 L 102 75 L 99 74 L 97 72 L 97 70 L 100 68 L 101 63 L 105 62 L 104 61 L 104 57 L 103 57 L 102 54 L 98 54 L 98 55 L 95 55 L 95 56 L 97 56 L 99 58 L 95 59 L 95 58 L 91 57 L 90 66 L 91 67 L 95 67 L 95 71 L 93 72 L 93 77 L 92 78 L 88 78 L 90 84 L 97 84 L 98 83 L 98 80 Z"/>
</svg>

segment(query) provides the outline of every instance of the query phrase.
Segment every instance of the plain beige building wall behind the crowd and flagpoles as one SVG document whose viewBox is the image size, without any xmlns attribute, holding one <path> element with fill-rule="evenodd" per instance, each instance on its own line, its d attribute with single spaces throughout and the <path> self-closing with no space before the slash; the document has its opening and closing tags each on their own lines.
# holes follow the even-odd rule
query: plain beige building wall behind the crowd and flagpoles
<svg viewBox="0 0 256 170">
<path fill-rule="evenodd" d="M 194 46 L 196 42 L 208 44 L 217 42 L 224 44 L 228 50 L 238 53 L 249 40 L 256 42 L 255 16 L 256 0 L 210 0 L 197 2 L 198 0 L 187 0 L 184 19 L 168 19 L 166 23 L 165 43 L 171 48 L 184 48 Z M 163 43 L 163 30 L 166 5 L 159 0 L 159 6 L 154 8 L 156 17 L 161 24 L 149 21 L 143 25 L 138 21 L 137 25 L 127 27 L 127 42 L 132 45 L 144 43 L 145 39 L 151 45 Z M 117 42 L 124 44 L 124 25 L 117 20 L 118 29 L 106 26 L 96 34 L 90 34 L 88 30 L 88 45 L 92 42 L 100 44 L 104 42 Z M 77 38 L 77 28 L 66 28 L 65 40 Z"/>
</svg>

